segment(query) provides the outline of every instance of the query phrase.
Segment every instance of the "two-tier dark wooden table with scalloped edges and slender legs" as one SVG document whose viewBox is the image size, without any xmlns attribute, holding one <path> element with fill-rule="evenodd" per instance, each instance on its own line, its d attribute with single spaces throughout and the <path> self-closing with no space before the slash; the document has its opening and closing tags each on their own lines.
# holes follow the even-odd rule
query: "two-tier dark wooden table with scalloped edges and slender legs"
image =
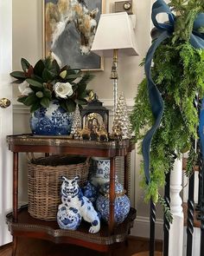
<svg viewBox="0 0 204 256">
<path fill-rule="evenodd" d="M 7 215 L 10 233 L 13 235 L 13 253 L 16 255 L 17 237 L 26 236 L 51 240 L 55 243 L 71 243 L 85 246 L 99 252 L 112 253 L 115 243 L 123 242 L 130 233 L 136 210 L 131 211 L 120 225 L 114 223 L 115 199 L 115 158 L 124 156 L 124 187 L 128 187 L 128 154 L 134 149 L 131 140 L 122 141 L 78 141 L 68 136 L 37 136 L 37 135 L 10 135 L 7 136 L 10 151 L 13 152 L 13 212 Z M 99 233 L 88 233 L 86 223 L 76 231 L 61 230 L 56 221 L 44 221 L 32 218 L 27 207 L 18 209 L 18 154 L 79 154 L 83 156 L 107 157 L 111 160 L 110 168 L 110 220 L 108 225 L 101 225 Z"/>
</svg>

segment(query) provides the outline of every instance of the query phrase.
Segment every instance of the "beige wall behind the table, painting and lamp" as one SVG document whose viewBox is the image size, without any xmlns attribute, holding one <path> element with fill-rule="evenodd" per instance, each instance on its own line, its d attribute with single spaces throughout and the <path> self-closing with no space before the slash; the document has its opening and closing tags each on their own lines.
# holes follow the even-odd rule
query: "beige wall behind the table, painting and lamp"
<svg viewBox="0 0 204 256">
<path fill-rule="evenodd" d="M 105 0 L 105 12 L 112 12 L 112 4 L 115 1 Z M 150 47 L 150 10 L 154 1 L 133 0 L 133 9 L 136 14 L 136 38 L 140 56 L 119 58 L 118 61 L 118 92 L 124 91 L 130 107 L 137 93 L 137 84 L 143 78 L 143 68 L 139 63 Z M 21 69 L 21 57 L 35 63 L 42 57 L 42 1 L 41 0 L 13 0 L 13 69 Z M 99 98 L 105 103 L 112 103 L 112 81 L 110 80 L 112 60 L 105 59 L 104 71 L 94 72 L 95 78 L 90 82 L 90 88 L 95 89 Z M 14 85 L 15 87 L 15 85 Z M 14 89 L 17 97 L 17 89 Z M 29 132 L 29 111 L 22 105 L 16 105 L 14 109 L 14 133 Z M 136 155 L 135 164 L 135 207 L 137 208 L 138 223 L 133 229 L 133 234 L 145 236 L 146 230 L 141 232 L 139 225 L 148 228 L 149 206 L 143 203 L 143 190 L 139 188 L 139 161 Z M 25 174 L 24 174 L 25 175 Z M 21 176 L 22 187 L 26 186 L 25 176 Z M 21 193 L 22 200 L 26 195 Z M 159 222 L 161 227 L 161 221 Z M 141 226 L 139 226 L 141 227 Z M 139 232 L 138 232 L 139 230 Z"/>
</svg>

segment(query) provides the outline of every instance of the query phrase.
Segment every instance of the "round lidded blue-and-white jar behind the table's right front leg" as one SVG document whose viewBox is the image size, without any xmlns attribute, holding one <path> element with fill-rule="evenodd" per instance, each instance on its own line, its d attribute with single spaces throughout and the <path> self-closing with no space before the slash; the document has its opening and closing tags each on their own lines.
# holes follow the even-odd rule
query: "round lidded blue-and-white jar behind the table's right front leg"
<svg viewBox="0 0 204 256">
<path fill-rule="evenodd" d="M 101 188 L 98 199 L 96 200 L 96 208 L 101 214 L 101 218 L 108 222 L 110 216 L 110 200 L 109 200 L 110 183 L 105 183 Z M 131 209 L 131 202 L 125 194 L 124 187 L 118 182 L 115 182 L 115 206 L 114 220 L 116 223 L 122 223 L 127 217 Z"/>
</svg>

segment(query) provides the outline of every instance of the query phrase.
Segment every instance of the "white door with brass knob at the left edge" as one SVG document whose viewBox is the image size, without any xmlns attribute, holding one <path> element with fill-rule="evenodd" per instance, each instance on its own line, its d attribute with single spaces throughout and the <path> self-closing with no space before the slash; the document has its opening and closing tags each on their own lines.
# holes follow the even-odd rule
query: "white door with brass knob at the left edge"
<svg viewBox="0 0 204 256">
<path fill-rule="evenodd" d="M 11 70 L 12 0 L 0 0 L 0 99 L 12 99 Z M 0 108 L 0 246 L 11 241 L 5 215 L 12 208 L 12 154 L 6 143 L 6 135 L 12 133 L 11 104 L 9 108 Z"/>
</svg>

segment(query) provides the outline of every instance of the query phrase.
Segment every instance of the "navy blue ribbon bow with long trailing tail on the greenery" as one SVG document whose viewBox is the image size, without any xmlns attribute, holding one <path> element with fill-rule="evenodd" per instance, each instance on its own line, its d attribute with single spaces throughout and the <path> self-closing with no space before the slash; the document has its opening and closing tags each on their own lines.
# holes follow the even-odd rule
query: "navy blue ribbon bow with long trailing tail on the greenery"
<svg viewBox="0 0 204 256">
<path fill-rule="evenodd" d="M 168 23 L 158 23 L 156 16 L 160 13 L 166 13 L 169 16 Z M 145 75 L 148 81 L 148 92 L 150 98 L 150 107 L 152 114 L 155 118 L 155 123 L 147 132 L 143 138 L 143 162 L 144 162 L 144 174 L 147 184 L 150 182 L 150 144 L 153 135 L 156 133 L 156 129 L 159 127 L 160 122 L 163 117 L 163 98 L 159 90 L 156 88 L 156 84 L 151 78 L 151 62 L 155 54 L 156 48 L 162 43 L 166 38 L 172 36 L 174 32 L 175 24 L 175 15 L 169 9 L 167 3 L 164 3 L 163 0 L 157 0 L 152 6 L 151 14 L 152 22 L 154 23 L 157 30 L 160 31 L 160 36 L 152 43 L 150 49 L 148 50 L 146 59 L 145 59 Z M 199 32 L 199 29 L 204 26 L 204 13 L 198 14 L 194 20 L 194 28 L 190 36 L 190 43 L 196 49 L 204 49 L 204 34 Z M 203 138 L 204 139 L 204 138 Z M 204 149 L 204 148 L 203 148 Z"/>
</svg>

